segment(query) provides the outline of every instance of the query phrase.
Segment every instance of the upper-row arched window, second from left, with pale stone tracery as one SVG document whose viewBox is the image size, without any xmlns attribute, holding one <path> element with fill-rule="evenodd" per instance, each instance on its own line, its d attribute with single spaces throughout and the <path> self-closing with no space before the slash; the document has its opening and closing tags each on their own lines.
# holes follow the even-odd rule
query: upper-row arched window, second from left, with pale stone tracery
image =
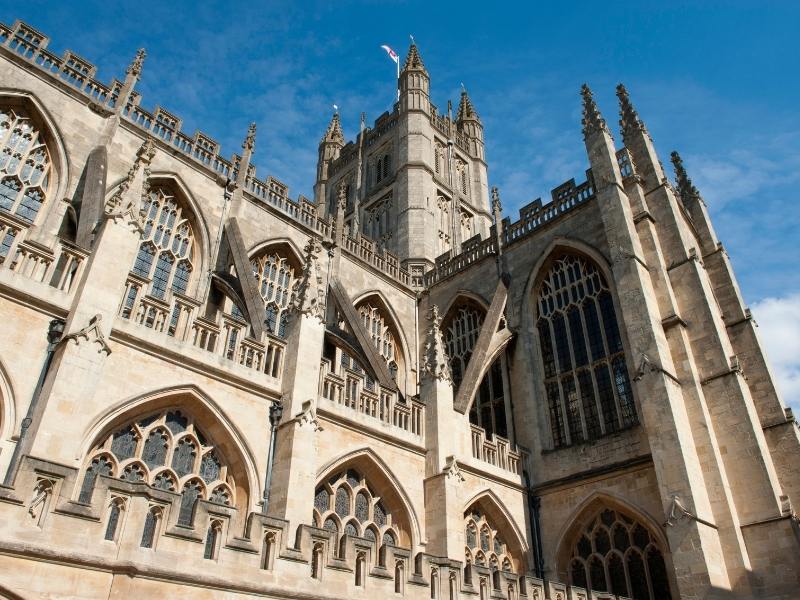
<svg viewBox="0 0 800 600">
<path fill-rule="evenodd" d="M 151 280 L 150 293 L 185 294 L 195 268 L 194 233 L 188 215 L 165 186 L 153 186 L 142 203 L 144 230 L 133 272 Z"/>
</svg>

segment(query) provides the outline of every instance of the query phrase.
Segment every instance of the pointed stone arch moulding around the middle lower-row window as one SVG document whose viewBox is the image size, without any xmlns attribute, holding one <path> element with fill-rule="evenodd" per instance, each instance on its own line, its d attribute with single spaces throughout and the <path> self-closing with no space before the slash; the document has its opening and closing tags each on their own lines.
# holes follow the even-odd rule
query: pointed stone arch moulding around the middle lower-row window
<svg viewBox="0 0 800 600">
<path fill-rule="evenodd" d="M 336 473 L 346 472 L 351 468 L 363 473 L 373 486 L 375 496 L 380 497 L 393 516 L 398 515 L 402 519 L 400 524 L 409 539 L 401 541 L 407 542 L 410 548 L 419 544 L 422 533 L 414 505 L 395 474 L 372 448 L 352 450 L 325 463 L 317 471 L 317 485 L 326 482 Z M 395 525 L 393 529 L 397 532 L 398 527 Z"/>
</svg>

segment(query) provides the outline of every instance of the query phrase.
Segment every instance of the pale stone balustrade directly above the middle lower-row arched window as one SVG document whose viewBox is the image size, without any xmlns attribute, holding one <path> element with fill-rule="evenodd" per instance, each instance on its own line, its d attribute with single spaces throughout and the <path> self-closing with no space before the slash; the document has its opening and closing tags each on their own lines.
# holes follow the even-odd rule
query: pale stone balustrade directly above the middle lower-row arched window
<svg viewBox="0 0 800 600">
<path fill-rule="evenodd" d="M 415 398 L 401 400 L 397 392 L 382 387 L 363 371 L 340 367 L 333 372 L 329 360 L 320 365 L 320 397 L 407 431 L 415 436 L 424 434 L 425 405 Z"/>
</svg>

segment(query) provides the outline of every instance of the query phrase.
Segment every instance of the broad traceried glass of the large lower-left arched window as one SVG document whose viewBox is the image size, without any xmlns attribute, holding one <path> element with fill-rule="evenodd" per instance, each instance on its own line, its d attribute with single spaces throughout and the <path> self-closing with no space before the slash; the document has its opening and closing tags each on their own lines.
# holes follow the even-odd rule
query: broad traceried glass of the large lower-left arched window
<svg viewBox="0 0 800 600">
<path fill-rule="evenodd" d="M 124 425 L 95 445 L 86 463 L 80 502 L 91 501 L 98 475 L 181 493 L 178 521 L 184 524 L 191 523 L 197 500 L 226 506 L 235 500 L 235 482 L 222 454 L 191 416 L 178 409 Z"/>
</svg>

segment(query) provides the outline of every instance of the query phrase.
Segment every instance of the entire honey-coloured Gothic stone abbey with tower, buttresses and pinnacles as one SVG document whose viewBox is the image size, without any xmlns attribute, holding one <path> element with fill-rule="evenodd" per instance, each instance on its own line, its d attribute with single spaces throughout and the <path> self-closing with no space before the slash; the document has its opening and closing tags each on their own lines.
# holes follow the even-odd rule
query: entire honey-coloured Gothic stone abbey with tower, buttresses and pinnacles
<svg viewBox="0 0 800 600">
<path fill-rule="evenodd" d="M 800 430 L 624 87 L 510 217 L 414 45 L 295 200 L 48 42 L 0 25 L 0 596 L 800 595 Z"/>
</svg>

